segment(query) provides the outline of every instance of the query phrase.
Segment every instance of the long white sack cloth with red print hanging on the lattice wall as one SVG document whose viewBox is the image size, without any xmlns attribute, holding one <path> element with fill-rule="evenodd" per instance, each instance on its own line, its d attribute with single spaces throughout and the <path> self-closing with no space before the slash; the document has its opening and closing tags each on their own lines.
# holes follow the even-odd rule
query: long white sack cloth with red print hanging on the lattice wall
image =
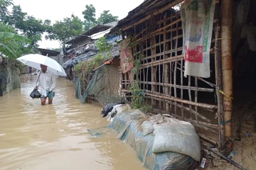
<svg viewBox="0 0 256 170">
<path fill-rule="evenodd" d="M 210 42 L 215 0 L 186 0 L 181 5 L 184 77 L 210 77 Z"/>
</svg>

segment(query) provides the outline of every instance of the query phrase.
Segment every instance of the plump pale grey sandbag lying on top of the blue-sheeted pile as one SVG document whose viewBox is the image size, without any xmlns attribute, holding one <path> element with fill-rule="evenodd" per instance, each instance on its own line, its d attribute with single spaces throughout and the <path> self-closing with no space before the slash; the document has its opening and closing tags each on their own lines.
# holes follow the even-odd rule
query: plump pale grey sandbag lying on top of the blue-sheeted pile
<svg viewBox="0 0 256 170">
<path fill-rule="evenodd" d="M 154 125 L 154 135 L 152 152 L 177 152 L 200 161 L 201 143 L 191 123 L 175 120 L 172 123 Z"/>
</svg>

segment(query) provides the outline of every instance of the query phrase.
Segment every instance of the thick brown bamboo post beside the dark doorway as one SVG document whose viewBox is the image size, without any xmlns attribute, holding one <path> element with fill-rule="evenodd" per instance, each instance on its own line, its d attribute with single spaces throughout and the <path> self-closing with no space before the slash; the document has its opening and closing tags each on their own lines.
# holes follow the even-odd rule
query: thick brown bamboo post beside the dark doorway
<svg viewBox="0 0 256 170">
<path fill-rule="evenodd" d="M 232 0 L 221 1 L 221 55 L 223 72 L 223 114 L 225 125 L 225 152 L 231 152 L 233 148 L 232 141 L 232 108 L 233 108 L 233 66 L 232 66 L 232 26 L 233 26 L 233 8 Z"/>
</svg>

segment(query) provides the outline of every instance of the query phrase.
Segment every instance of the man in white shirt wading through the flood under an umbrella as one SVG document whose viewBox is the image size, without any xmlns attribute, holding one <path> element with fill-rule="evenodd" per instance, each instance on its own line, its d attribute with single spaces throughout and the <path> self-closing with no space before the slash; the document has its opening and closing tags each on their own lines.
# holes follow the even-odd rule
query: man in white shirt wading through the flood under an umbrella
<svg viewBox="0 0 256 170">
<path fill-rule="evenodd" d="M 47 70 L 47 66 L 40 64 L 41 72 L 38 72 L 37 77 L 39 77 L 36 84 L 36 89 L 40 86 L 41 88 L 41 104 L 46 105 L 46 98 L 48 98 L 48 103 L 53 103 L 53 97 L 55 96 L 54 89 L 56 86 L 56 78 L 52 72 Z"/>
</svg>

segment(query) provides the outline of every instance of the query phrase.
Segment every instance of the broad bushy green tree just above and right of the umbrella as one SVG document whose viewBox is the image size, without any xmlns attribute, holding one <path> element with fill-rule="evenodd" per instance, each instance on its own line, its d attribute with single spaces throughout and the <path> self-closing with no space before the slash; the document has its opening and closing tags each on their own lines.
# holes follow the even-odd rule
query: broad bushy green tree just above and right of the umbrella
<svg viewBox="0 0 256 170">
<path fill-rule="evenodd" d="M 64 18 L 63 21 L 54 23 L 52 29 L 48 31 L 46 39 L 58 40 L 60 45 L 63 45 L 63 42 L 80 35 L 82 32 L 82 21 L 78 16 L 72 15 L 70 18 Z"/>
</svg>

